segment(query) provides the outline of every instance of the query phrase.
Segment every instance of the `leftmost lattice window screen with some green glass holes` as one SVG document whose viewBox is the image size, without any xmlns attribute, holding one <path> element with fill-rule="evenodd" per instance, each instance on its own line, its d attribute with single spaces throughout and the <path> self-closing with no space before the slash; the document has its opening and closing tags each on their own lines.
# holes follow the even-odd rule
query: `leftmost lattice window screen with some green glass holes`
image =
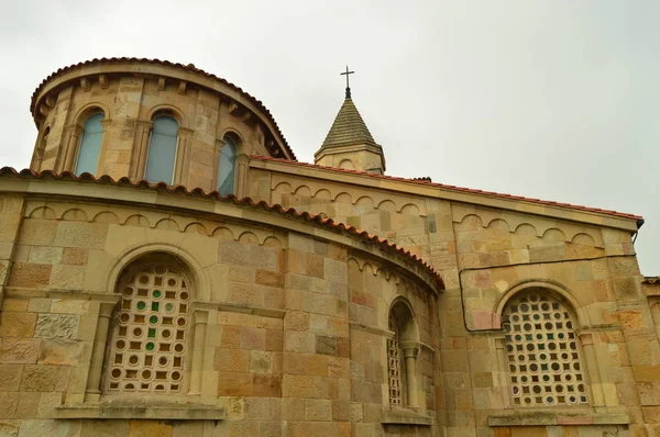
<svg viewBox="0 0 660 437">
<path fill-rule="evenodd" d="M 185 277 L 164 264 L 145 266 L 118 292 L 107 392 L 180 392 L 190 302 Z"/>
</svg>

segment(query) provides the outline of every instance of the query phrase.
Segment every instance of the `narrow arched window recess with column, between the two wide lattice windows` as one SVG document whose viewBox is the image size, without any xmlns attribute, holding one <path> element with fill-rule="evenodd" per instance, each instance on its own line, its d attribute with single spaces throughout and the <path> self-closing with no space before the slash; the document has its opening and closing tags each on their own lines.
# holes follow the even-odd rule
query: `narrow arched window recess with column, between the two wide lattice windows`
<svg viewBox="0 0 660 437">
<path fill-rule="evenodd" d="M 409 304 L 395 301 L 388 314 L 387 393 L 391 407 L 417 406 L 417 327 Z"/>
</svg>

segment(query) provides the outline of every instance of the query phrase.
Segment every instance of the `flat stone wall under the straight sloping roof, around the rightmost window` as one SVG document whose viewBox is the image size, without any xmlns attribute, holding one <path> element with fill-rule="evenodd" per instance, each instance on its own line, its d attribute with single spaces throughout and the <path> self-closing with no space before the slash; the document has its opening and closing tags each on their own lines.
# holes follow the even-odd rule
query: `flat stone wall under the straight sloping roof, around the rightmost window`
<svg viewBox="0 0 660 437">
<path fill-rule="evenodd" d="M 597 225 L 591 216 L 579 222 L 566 212 L 544 217 L 540 208 L 532 214 L 480 206 L 411 183 L 288 167 L 253 164 L 251 194 L 387 238 L 440 271 L 447 287 L 433 307 L 440 349 L 429 355 L 437 361 L 438 421 L 448 435 L 660 433 L 654 301 L 642 293 L 625 226 Z M 565 306 L 585 403 L 512 404 L 509 366 L 518 358 L 507 354 L 502 328 L 509 320 L 502 317 L 520 293 L 547 294 Z M 364 305 L 351 299 L 355 307 Z"/>
</svg>

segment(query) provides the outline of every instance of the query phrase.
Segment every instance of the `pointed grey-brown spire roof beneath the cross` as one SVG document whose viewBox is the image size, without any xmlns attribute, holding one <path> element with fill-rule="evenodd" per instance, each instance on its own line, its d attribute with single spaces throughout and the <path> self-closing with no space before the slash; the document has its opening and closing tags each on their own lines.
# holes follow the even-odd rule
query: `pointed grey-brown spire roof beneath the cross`
<svg viewBox="0 0 660 437">
<path fill-rule="evenodd" d="M 334 117 L 332 127 L 330 127 L 330 132 L 328 132 L 321 148 L 348 146 L 352 144 L 370 144 L 377 146 L 349 94 L 341 105 L 337 117 Z"/>
</svg>

